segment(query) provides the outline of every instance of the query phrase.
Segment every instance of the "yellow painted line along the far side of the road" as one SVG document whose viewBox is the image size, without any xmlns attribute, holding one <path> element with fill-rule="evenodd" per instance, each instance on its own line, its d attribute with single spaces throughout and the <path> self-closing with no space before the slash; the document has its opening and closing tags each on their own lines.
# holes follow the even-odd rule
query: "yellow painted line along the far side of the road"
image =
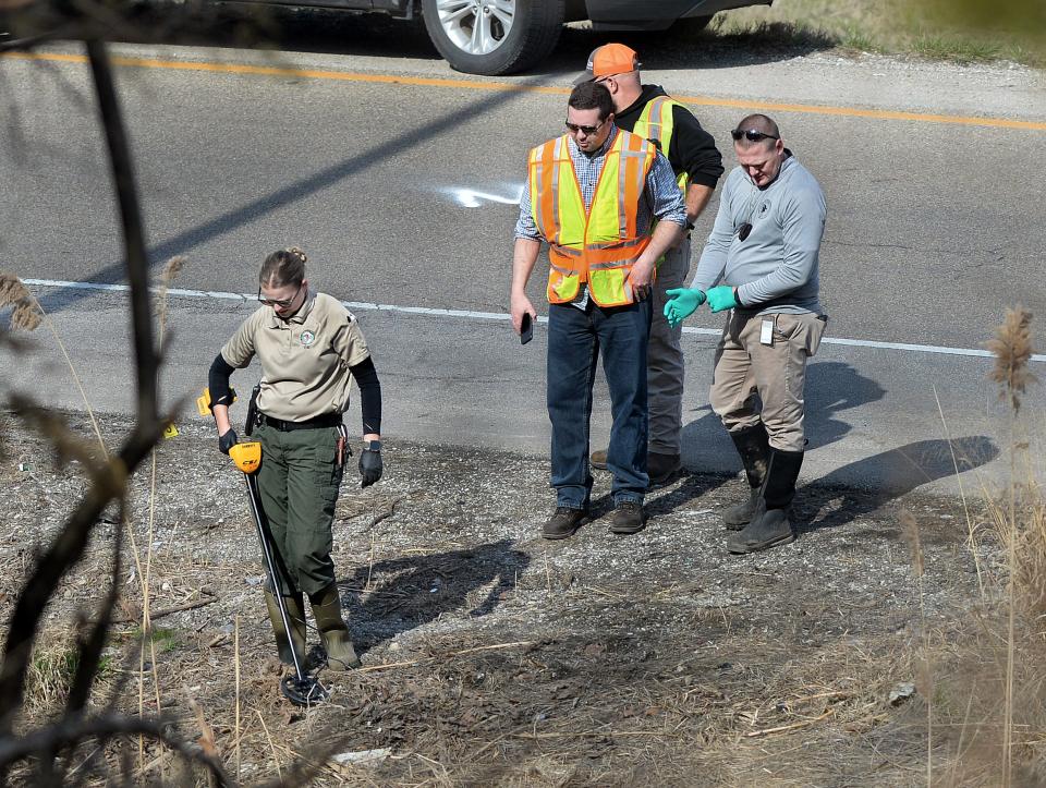
<svg viewBox="0 0 1046 788">
<path fill-rule="evenodd" d="M 60 63 L 86 63 L 83 54 L 62 52 L 5 52 L 0 58 L 12 60 L 44 60 Z M 511 82 L 479 82 L 476 80 L 447 80 L 429 76 L 396 76 L 392 74 L 362 74 L 351 71 L 329 71 L 318 69 L 297 69 L 280 65 L 250 65 L 246 63 L 188 62 L 160 60 L 157 58 L 126 58 L 113 56 L 114 65 L 129 69 L 167 69 L 173 71 L 202 71 L 222 74 L 250 74 L 260 76 L 296 76 L 309 80 L 332 80 L 341 82 L 364 82 L 382 85 L 410 85 L 421 87 L 448 87 L 469 90 L 511 90 L 515 93 L 540 93 L 569 95 L 570 88 L 540 85 L 518 85 Z M 701 107 L 729 107 L 733 109 L 774 110 L 777 112 L 800 112 L 805 114 L 827 114 L 847 118 L 869 118 L 875 120 L 914 121 L 917 123 L 950 123 L 952 125 L 986 126 L 992 129 L 1022 129 L 1025 131 L 1046 131 L 1046 122 L 1011 120 L 1008 118 L 976 118 L 972 116 L 932 114 L 926 112 L 901 112 L 881 109 L 860 109 L 858 107 L 831 107 L 808 104 L 777 104 L 771 101 L 735 100 L 729 98 L 702 98 L 697 96 L 673 96 L 678 101 Z"/>
</svg>

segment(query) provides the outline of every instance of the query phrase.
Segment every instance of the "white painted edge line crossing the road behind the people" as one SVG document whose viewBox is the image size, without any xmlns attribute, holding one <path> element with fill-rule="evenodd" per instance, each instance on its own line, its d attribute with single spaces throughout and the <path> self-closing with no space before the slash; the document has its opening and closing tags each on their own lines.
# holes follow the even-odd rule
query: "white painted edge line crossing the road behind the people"
<svg viewBox="0 0 1046 788">
<path fill-rule="evenodd" d="M 65 282 L 56 279 L 23 279 L 24 284 L 37 286 L 41 288 L 66 288 L 70 290 L 104 290 L 108 292 L 124 293 L 130 290 L 126 284 L 102 284 L 100 282 Z M 171 288 L 167 291 L 168 296 L 188 298 L 188 299 L 217 299 L 219 301 L 254 301 L 255 293 L 227 293 L 215 290 L 184 290 L 181 288 Z M 373 304 L 362 301 L 342 301 L 350 310 L 373 311 L 373 312 L 402 312 L 410 315 L 427 315 L 429 317 L 458 317 L 476 320 L 508 320 L 509 315 L 502 312 L 471 312 L 469 310 L 440 310 L 431 306 L 399 306 L 397 304 Z M 547 317 L 538 317 L 538 323 L 548 323 Z M 700 334 L 709 337 L 718 337 L 722 331 L 718 328 L 696 328 L 684 326 L 683 334 Z M 911 353 L 932 353 L 937 355 L 972 355 L 981 359 L 992 359 L 993 353 L 987 350 L 975 348 L 941 348 L 935 344 L 911 344 L 908 342 L 875 342 L 866 339 L 844 339 L 841 337 L 825 337 L 823 344 L 841 344 L 849 348 L 874 348 L 876 350 L 903 350 Z M 1031 361 L 1046 362 L 1046 353 L 1035 353 Z"/>
</svg>

